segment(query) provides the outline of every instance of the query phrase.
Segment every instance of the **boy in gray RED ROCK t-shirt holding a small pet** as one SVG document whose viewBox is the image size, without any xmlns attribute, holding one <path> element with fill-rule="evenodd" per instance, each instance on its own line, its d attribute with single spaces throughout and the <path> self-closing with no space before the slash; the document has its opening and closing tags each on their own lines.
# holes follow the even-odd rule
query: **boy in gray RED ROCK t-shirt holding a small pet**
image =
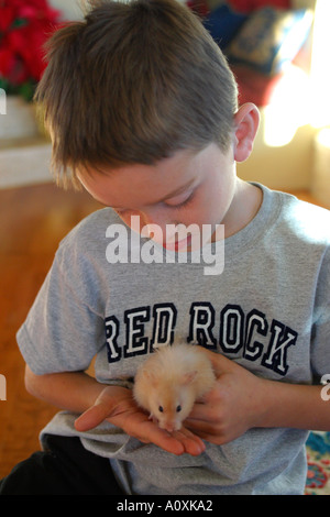
<svg viewBox="0 0 330 517">
<path fill-rule="evenodd" d="M 53 37 L 37 100 L 59 182 L 112 209 L 61 243 L 18 333 L 28 391 L 65 411 L 0 493 L 301 494 L 307 429 L 330 429 L 318 385 L 330 371 L 329 212 L 237 178 L 258 113 L 238 109 L 233 76 L 188 9 L 95 4 Z M 198 251 L 167 233 L 179 223 L 215 231 Z M 221 254 L 220 223 L 221 274 L 177 260 Z M 150 231 L 148 261 L 131 226 Z M 109 237 L 128 237 L 135 258 L 116 261 Z M 169 435 L 129 378 L 180 341 L 204 346 L 217 382 Z"/>
</svg>

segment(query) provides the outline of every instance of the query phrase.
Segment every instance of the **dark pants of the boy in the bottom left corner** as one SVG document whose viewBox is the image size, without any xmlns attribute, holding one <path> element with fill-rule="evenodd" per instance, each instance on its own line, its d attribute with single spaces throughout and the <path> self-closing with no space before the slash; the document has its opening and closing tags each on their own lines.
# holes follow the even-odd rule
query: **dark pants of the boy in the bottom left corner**
<svg viewBox="0 0 330 517">
<path fill-rule="evenodd" d="M 0 495 L 123 495 L 108 459 L 79 438 L 46 437 L 45 451 L 32 454 L 0 481 Z"/>
</svg>

